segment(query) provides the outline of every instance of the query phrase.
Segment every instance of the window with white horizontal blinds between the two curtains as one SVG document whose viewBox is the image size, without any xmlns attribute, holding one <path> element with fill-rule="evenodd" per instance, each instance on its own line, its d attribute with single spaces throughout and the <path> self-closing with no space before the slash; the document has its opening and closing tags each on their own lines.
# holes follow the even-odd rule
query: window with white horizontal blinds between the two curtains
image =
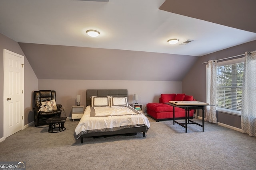
<svg viewBox="0 0 256 170">
<path fill-rule="evenodd" d="M 244 58 L 217 63 L 216 109 L 241 114 Z"/>
</svg>

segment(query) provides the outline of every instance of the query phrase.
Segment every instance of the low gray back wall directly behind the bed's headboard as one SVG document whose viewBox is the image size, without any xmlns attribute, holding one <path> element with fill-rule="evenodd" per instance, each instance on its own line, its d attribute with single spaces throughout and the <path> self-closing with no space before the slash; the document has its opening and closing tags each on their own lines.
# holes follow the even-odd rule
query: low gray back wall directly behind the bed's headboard
<svg viewBox="0 0 256 170">
<path fill-rule="evenodd" d="M 87 89 L 128 89 L 128 102 L 134 103 L 134 94 L 139 95 L 138 103 L 158 102 L 162 93 L 181 93 L 182 82 L 132 81 L 132 80 L 38 80 L 39 90 L 56 90 L 56 102 L 66 109 L 71 117 L 71 106 L 76 105 L 76 95 L 81 95 L 81 105 L 86 105 Z M 64 113 L 62 112 L 62 115 Z"/>
</svg>

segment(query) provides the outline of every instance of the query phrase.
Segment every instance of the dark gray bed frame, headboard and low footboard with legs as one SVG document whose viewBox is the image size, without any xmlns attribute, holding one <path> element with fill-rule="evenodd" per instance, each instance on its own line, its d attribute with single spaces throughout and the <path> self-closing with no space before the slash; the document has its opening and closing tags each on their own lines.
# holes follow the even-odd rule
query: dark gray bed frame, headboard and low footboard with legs
<svg viewBox="0 0 256 170">
<path fill-rule="evenodd" d="M 98 96 L 98 97 L 114 96 L 114 97 L 127 97 L 128 98 L 128 91 L 126 89 L 119 89 L 119 90 L 87 90 L 86 91 L 86 106 L 91 105 L 91 96 Z M 83 143 L 84 137 L 97 137 L 97 136 L 106 136 L 106 135 L 123 135 L 123 134 L 128 134 L 128 133 L 137 133 L 137 132 L 143 132 L 143 137 L 145 137 L 146 130 L 147 130 L 146 127 L 134 127 L 134 128 L 121 129 L 121 130 L 118 130 L 118 131 L 88 133 L 88 134 L 82 135 L 80 137 L 80 139 L 81 139 L 81 143 Z"/>
</svg>

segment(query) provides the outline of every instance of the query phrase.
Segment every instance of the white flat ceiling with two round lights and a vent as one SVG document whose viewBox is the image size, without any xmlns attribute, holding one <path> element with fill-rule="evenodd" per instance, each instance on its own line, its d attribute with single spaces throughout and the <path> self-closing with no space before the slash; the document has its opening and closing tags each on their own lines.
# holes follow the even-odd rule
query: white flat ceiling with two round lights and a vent
<svg viewBox="0 0 256 170">
<path fill-rule="evenodd" d="M 22 43 L 193 56 L 256 40 L 253 32 L 159 10 L 164 1 L 1 0 L 0 33 Z M 170 45 L 172 38 L 194 41 Z"/>
</svg>

